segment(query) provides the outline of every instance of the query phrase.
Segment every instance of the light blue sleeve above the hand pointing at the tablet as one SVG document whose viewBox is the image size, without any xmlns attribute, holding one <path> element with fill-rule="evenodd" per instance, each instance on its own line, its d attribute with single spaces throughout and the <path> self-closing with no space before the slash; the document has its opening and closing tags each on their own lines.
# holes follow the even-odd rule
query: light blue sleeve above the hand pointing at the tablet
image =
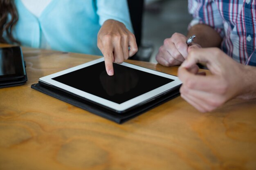
<svg viewBox="0 0 256 170">
<path fill-rule="evenodd" d="M 97 14 L 100 25 L 106 20 L 117 20 L 133 32 L 127 0 L 97 0 Z"/>
</svg>

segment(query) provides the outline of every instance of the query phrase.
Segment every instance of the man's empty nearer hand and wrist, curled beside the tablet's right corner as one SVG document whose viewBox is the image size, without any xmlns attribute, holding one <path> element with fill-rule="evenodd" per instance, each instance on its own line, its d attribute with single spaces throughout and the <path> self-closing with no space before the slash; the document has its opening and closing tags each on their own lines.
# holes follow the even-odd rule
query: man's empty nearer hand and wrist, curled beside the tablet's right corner
<svg viewBox="0 0 256 170">
<path fill-rule="evenodd" d="M 191 71 L 198 62 L 211 75 Z M 256 68 L 235 62 L 218 48 L 191 49 L 178 70 L 181 97 L 201 112 L 212 111 L 234 97 L 255 98 L 255 75 Z"/>
</svg>

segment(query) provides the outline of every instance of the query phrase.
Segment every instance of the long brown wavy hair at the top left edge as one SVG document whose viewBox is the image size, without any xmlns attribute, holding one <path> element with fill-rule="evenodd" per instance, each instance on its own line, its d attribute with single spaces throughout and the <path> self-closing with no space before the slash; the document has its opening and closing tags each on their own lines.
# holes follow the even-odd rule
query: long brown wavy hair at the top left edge
<svg viewBox="0 0 256 170">
<path fill-rule="evenodd" d="M 10 20 L 8 20 L 9 15 L 11 16 Z M 7 43 L 7 40 L 3 38 L 5 31 L 9 41 L 20 44 L 11 34 L 17 21 L 18 12 L 13 0 L 0 0 L 0 43 Z"/>
</svg>

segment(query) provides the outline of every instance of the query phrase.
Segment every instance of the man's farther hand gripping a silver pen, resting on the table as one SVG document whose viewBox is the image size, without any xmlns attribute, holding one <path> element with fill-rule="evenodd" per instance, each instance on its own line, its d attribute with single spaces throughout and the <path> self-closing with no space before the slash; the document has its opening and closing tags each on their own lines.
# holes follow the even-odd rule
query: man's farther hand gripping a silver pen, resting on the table
<svg viewBox="0 0 256 170">
<path fill-rule="evenodd" d="M 171 38 L 164 40 L 164 45 L 160 46 L 156 60 L 163 66 L 180 65 L 188 56 L 188 48 L 201 48 L 200 45 L 192 43 L 188 47 L 186 36 L 174 33 Z"/>
</svg>

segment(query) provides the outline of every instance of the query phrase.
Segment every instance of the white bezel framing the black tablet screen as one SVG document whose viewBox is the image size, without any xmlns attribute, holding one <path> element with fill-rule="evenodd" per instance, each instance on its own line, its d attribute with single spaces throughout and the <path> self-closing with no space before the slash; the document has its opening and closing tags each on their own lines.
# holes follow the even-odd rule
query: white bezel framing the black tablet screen
<svg viewBox="0 0 256 170">
<path fill-rule="evenodd" d="M 123 62 L 121 65 L 123 66 L 128 66 L 130 68 L 134 68 L 134 69 L 137 69 L 137 70 L 140 70 L 140 71 L 145 71 L 147 73 L 151 73 L 151 74 L 154 74 L 154 75 L 159 75 L 159 76 L 162 76 L 162 77 L 166 77 L 166 78 L 169 78 L 169 79 L 173 79 L 174 81 L 168 83 L 168 84 L 165 84 L 163 86 L 160 86 L 158 88 L 155 88 L 154 90 L 152 91 L 149 91 L 147 93 L 144 93 L 142 95 L 139 95 L 133 99 L 130 99 L 124 103 L 121 103 L 121 104 L 117 104 L 115 102 L 111 102 L 107 99 L 103 99 L 101 97 L 98 97 L 96 95 L 92 95 L 90 93 L 86 93 L 84 91 L 81 91 L 79 89 L 76 89 L 74 87 L 71 87 L 71 86 L 67 86 L 66 84 L 63 84 L 61 82 L 57 82 L 55 80 L 53 80 L 52 78 L 54 77 L 58 77 L 60 75 L 63 75 L 63 74 L 66 74 L 66 73 L 70 73 L 72 71 L 76 71 L 76 70 L 79 70 L 81 68 L 84 68 L 84 67 L 88 67 L 88 66 L 91 66 L 93 64 L 97 64 L 99 62 L 102 62 L 104 61 L 104 58 L 99 58 L 97 60 L 93 60 L 91 62 L 87 62 L 85 64 L 81 64 L 79 66 L 75 66 L 75 67 L 72 67 L 72 68 L 69 68 L 67 70 L 64 70 L 64 71 L 60 71 L 58 73 L 54 73 L 54 74 L 51 74 L 51 75 L 47 75 L 45 77 L 41 77 L 39 79 L 39 81 L 42 81 L 42 82 L 45 82 L 47 84 L 50 84 L 52 86 L 56 86 L 58 88 L 62 88 L 64 89 L 65 91 L 69 91 L 71 93 L 74 93 L 76 95 L 79 95 L 81 97 L 84 97 L 86 99 L 89 99 L 93 102 L 96 102 L 96 103 L 99 103 L 103 106 L 106 106 L 108 108 L 112 108 L 113 110 L 116 110 L 117 112 L 123 112 L 124 110 L 127 110 L 137 104 L 141 104 L 141 103 L 144 103 L 150 99 L 153 99 L 154 97 L 157 97 L 167 91 L 169 91 L 170 89 L 176 87 L 176 86 L 179 86 L 180 84 L 182 84 L 182 82 L 180 81 L 180 79 L 177 77 L 177 76 L 173 76 L 173 75 L 169 75 L 169 74 L 166 74 L 166 73 L 162 73 L 162 72 L 158 72 L 158 71 L 154 71 L 154 70 L 151 70 L 151 69 L 148 69 L 148 68 L 144 68 L 144 67 L 141 67 L 141 66 L 136 66 L 136 65 L 133 65 L 133 64 L 129 64 L 129 63 L 126 63 L 126 62 Z"/>
</svg>

